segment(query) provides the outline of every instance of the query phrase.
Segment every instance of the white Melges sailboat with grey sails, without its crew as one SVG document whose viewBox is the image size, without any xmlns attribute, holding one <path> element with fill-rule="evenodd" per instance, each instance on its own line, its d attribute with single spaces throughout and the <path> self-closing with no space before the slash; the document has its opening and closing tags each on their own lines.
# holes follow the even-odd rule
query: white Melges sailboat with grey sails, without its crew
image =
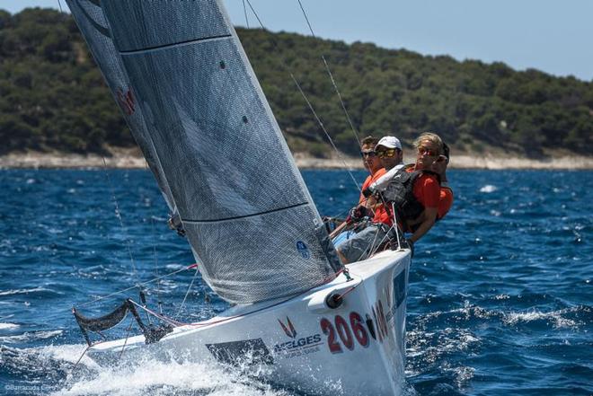
<svg viewBox="0 0 593 396">
<path fill-rule="evenodd" d="M 259 366 L 311 394 L 400 394 L 411 251 L 341 264 L 222 0 L 66 1 L 202 278 L 231 303 L 208 321 L 89 341 L 88 356 Z M 129 311 L 77 319 L 98 330 Z"/>
</svg>

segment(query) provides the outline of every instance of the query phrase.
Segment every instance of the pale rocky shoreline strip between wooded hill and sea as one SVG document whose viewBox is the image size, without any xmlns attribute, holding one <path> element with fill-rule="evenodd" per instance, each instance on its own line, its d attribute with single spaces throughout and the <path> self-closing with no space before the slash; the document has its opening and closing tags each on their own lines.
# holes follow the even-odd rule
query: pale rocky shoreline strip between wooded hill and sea
<svg viewBox="0 0 593 396">
<path fill-rule="evenodd" d="M 359 158 L 314 158 L 295 154 L 297 166 L 302 169 L 362 169 Z M 104 161 L 104 162 L 103 162 Z M 406 158 L 406 163 L 412 162 Z M 137 150 L 119 150 L 111 156 L 97 154 L 37 153 L 0 155 L 0 169 L 92 169 L 102 168 L 143 169 L 146 161 Z M 449 165 L 452 169 L 524 169 L 524 170 L 593 170 L 593 156 L 563 154 L 544 160 L 521 158 L 501 154 L 456 154 Z"/>
</svg>

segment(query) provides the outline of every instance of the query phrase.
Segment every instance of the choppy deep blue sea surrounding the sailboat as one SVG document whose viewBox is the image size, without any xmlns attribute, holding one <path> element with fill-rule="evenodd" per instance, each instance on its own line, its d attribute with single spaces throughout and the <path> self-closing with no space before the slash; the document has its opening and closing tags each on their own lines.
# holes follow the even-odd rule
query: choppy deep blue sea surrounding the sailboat
<svg viewBox="0 0 593 396">
<path fill-rule="evenodd" d="M 346 172 L 303 174 L 323 215 L 357 201 Z M 449 180 L 454 206 L 412 261 L 406 393 L 593 394 L 593 172 Z M 188 266 L 190 249 L 146 171 L 1 171 L 0 186 L 0 394 L 295 394 L 206 365 L 75 367 L 71 307 Z M 198 279 L 180 311 L 191 277 L 152 284 L 149 304 L 193 321 L 225 309 Z"/>
</svg>

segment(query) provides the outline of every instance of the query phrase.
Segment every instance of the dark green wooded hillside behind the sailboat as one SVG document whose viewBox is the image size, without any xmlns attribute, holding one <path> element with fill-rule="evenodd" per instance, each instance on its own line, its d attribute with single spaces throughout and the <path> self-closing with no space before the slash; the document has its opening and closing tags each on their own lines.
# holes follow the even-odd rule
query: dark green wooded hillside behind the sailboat
<svg viewBox="0 0 593 396">
<path fill-rule="evenodd" d="M 326 57 L 359 135 L 412 141 L 436 131 L 460 151 L 491 146 L 538 156 L 593 150 L 593 84 L 502 63 L 424 57 L 373 44 L 238 30 L 293 151 L 331 154 L 289 72 L 336 145 L 358 151 L 325 72 Z M 105 153 L 134 140 L 68 14 L 0 10 L 0 154 L 21 150 Z"/>
</svg>

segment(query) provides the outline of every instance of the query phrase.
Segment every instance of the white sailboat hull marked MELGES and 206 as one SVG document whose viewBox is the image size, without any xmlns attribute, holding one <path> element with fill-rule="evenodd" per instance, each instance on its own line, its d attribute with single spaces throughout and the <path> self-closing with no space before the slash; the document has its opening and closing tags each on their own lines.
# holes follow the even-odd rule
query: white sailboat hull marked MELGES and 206
<svg viewBox="0 0 593 396">
<path fill-rule="evenodd" d="M 409 250 L 384 251 L 347 266 L 350 282 L 341 275 L 288 301 L 235 306 L 207 325 L 177 327 L 155 344 L 137 336 L 97 344 L 88 354 L 112 364 L 125 343 L 126 360 L 222 362 L 300 392 L 397 395 L 410 260 Z M 338 308 L 324 303 L 327 295 L 348 291 Z"/>
</svg>

